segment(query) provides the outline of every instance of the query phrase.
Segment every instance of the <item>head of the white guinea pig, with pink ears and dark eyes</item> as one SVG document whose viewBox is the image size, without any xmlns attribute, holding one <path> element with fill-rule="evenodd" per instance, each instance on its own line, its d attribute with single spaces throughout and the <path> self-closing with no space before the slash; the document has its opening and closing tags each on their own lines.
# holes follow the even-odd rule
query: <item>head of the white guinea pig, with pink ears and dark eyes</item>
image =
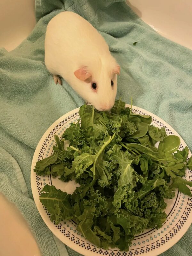
<svg viewBox="0 0 192 256">
<path fill-rule="evenodd" d="M 117 75 L 120 66 L 114 59 L 111 62 L 101 62 L 100 65 L 82 66 L 74 72 L 80 79 L 83 94 L 79 94 L 99 111 L 110 110 L 117 93 Z"/>
</svg>

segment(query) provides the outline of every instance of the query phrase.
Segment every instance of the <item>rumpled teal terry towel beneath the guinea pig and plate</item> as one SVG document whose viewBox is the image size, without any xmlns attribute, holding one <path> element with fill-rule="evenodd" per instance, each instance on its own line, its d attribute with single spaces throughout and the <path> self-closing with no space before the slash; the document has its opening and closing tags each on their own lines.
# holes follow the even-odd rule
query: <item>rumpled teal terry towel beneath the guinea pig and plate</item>
<svg viewBox="0 0 192 256">
<path fill-rule="evenodd" d="M 79 255 L 56 239 L 33 201 L 30 166 L 38 141 L 83 100 L 44 65 L 47 23 L 60 11 L 91 22 L 121 66 L 117 98 L 168 122 L 192 150 L 192 51 L 158 35 L 118 0 L 36 0 L 37 24 L 15 50 L 0 49 L 0 192 L 22 212 L 44 256 Z M 137 42 L 136 45 L 133 45 Z M 192 228 L 162 255 L 192 255 Z"/>
</svg>

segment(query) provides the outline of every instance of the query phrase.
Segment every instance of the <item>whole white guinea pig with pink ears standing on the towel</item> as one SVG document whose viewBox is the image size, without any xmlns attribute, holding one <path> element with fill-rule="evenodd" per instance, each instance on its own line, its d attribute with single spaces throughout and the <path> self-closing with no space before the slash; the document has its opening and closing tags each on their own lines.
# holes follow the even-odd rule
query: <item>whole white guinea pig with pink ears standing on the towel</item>
<svg viewBox="0 0 192 256">
<path fill-rule="evenodd" d="M 78 14 L 61 12 L 49 22 L 45 65 L 56 84 L 63 77 L 97 110 L 107 111 L 114 105 L 120 67 L 104 38 Z"/>
</svg>

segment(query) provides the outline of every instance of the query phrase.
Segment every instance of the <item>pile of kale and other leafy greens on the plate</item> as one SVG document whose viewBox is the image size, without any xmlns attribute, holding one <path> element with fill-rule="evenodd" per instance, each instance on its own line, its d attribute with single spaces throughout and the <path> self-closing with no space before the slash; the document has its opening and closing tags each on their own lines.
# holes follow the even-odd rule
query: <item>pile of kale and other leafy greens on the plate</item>
<svg viewBox="0 0 192 256">
<path fill-rule="evenodd" d="M 55 136 L 54 153 L 38 161 L 34 171 L 80 186 L 67 194 L 46 185 L 40 201 L 56 224 L 73 219 L 96 246 L 126 251 L 136 234 L 162 226 L 164 199 L 173 198 L 175 188 L 191 196 L 192 182 L 181 177 L 192 169 L 192 158 L 187 162 L 187 147 L 178 150 L 178 136 L 167 136 L 165 128 L 151 125 L 150 116 L 132 113 L 121 99 L 110 112 L 83 105 L 79 115 L 61 140 Z"/>
</svg>

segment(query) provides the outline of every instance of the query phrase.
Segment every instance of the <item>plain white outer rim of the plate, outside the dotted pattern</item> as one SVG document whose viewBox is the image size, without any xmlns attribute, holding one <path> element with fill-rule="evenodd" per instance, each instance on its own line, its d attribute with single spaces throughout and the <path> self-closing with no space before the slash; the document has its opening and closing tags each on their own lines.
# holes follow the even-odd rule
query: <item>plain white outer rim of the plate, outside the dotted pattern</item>
<svg viewBox="0 0 192 256">
<path fill-rule="evenodd" d="M 125 106 L 131 108 L 131 105 L 130 105 L 130 104 L 125 104 Z M 61 236 L 58 235 L 58 234 L 60 234 L 60 233 L 57 233 L 54 228 L 51 229 L 50 226 L 55 227 L 55 225 L 51 222 L 50 219 L 47 220 L 47 219 L 44 218 L 44 215 L 42 214 L 41 209 L 40 209 L 40 207 L 39 207 L 39 205 L 38 205 L 38 203 L 37 203 L 37 201 L 40 202 L 39 197 L 36 198 L 35 189 L 34 189 L 33 186 L 32 186 L 32 185 L 33 185 L 32 183 L 33 183 L 33 181 L 34 181 L 34 175 L 35 175 L 35 173 L 34 173 L 34 171 L 33 171 L 33 168 L 34 168 L 34 166 L 35 166 L 34 163 L 36 164 L 36 161 L 34 161 L 34 159 L 36 158 L 37 152 L 39 153 L 39 149 L 40 149 L 41 146 L 42 146 L 42 142 L 44 142 L 44 139 L 46 138 L 47 134 L 52 130 L 52 128 L 54 128 L 61 120 L 65 119 L 65 118 L 68 117 L 70 114 L 72 114 L 72 113 L 74 113 L 74 112 L 78 112 L 78 111 L 79 111 L 79 108 L 80 108 L 80 107 L 77 107 L 76 109 L 73 109 L 73 110 L 67 112 L 66 114 L 62 115 L 62 116 L 61 116 L 60 118 L 58 118 L 54 123 L 52 123 L 52 125 L 50 125 L 50 127 L 47 128 L 47 130 L 44 132 L 43 136 L 41 137 L 41 139 L 39 140 L 39 142 L 38 142 L 38 144 L 37 144 L 37 146 L 36 146 L 36 149 L 35 149 L 35 152 L 34 152 L 34 155 L 33 155 L 33 159 L 32 159 L 32 161 L 31 161 L 30 184 L 31 184 L 32 195 L 33 195 L 34 202 L 35 202 L 35 204 L 36 204 L 36 208 L 37 208 L 37 210 L 38 210 L 38 212 L 39 212 L 41 218 L 43 219 L 44 223 L 45 223 L 46 226 L 49 228 L 49 230 L 52 232 L 52 234 L 55 235 L 62 243 L 64 243 L 65 245 L 69 246 L 69 247 L 70 247 L 71 249 L 73 249 L 74 251 L 76 251 L 76 252 L 78 252 L 78 253 L 80 253 L 80 254 L 83 254 L 84 256 L 90 256 L 90 254 L 92 254 L 92 252 L 90 252 L 90 251 L 88 251 L 88 250 L 82 252 L 82 251 L 81 251 L 81 249 L 82 249 L 81 247 L 77 246 L 76 244 L 73 244 L 72 241 L 69 240 L 69 239 L 62 239 Z M 153 118 L 156 118 L 158 121 L 163 122 L 164 125 L 167 125 L 168 127 L 171 127 L 171 128 L 172 128 L 172 126 L 169 125 L 169 124 L 168 124 L 166 121 L 164 121 L 162 118 L 160 118 L 160 117 L 157 116 L 156 114 L 153 114 L 152 112 L 150 112 L 150 111 L 148 111 L 148 110 L 146 110 L 146 109 L 143 109 L 143 108 L 140 108 L 140 107 L 134 106 L 134 105 L 132 105 L 132 109 L 135 109 L 135 110 L 138 109 L 139 111 L 147 112 L 146 114 L 152 116 Z M 179 135 L 179 133 L 178 133 L 174 128 L 172 128 L 172 130 L 174 131 L 174 135 L 179 136 L 180 139 L 187 145 L 187 143 L 183 140 L 183 138 Z M 182 143 L 182 141 L 181 141 L 181 143 Z M 187 145 L 187 146 L 188 146 L 188 145 Z M 189 149 L 189 153 L 188 153 L 188 154 L 189 154 L 189 157 L 190 157 L 190 155 L 191 155 L 190 149 Z M 192 223 L 192 219 L 191 219 L 191 223 Z M 169 242 L 167 243 L 168 246 L 161 246 L 161 247 L 159 247 L 159 248 L 156 248 L 156 249 L 153 251 L 153 256 L 157 256 L 157 255 L 159 255 L 159 254 L 161 254 L 161 253 L 163 253 L 163 252 L 166 252 L 166 251 L 169 250 L 174 244 L 176 244 L 176 243 L 183 237 L 183 235 L 188 231 L 188 229 L 189 229 L 191 223 L 190 223 L 190 219 L 188 218 L 188 221 L 187 221 L 187 223 L 186 223 L 186 224 L 188 224 L 188 225 L 186 225 L 187 227 L 185 227 L 185 228 L 183 228 L 182 230 L 180 230 L 179 235 L 177 235 L 177 236 L 175 237 L 176 239 L 174 238 L 174 239 L 169 240 Z M 52 230 L 53 230 L 53 231 L 52 231 Z M 158 229 L 157 229 L 157 230 L 158 230 Z M 64 238 L 64 237 L 63 237 L 63 238 Z M 65 242 L 64 242 L 64 240 L 65 240 Z M 86 239 L 84 239 L 84 240 L 86 240 Z M 87 241 L 88 241 L 88 240 L 87 240 Z M 167 249 L 162 250 L 164 247 L 166 247 Z M 114 250 L 115 250 L 115 248 L 114 248 Z M 85 254 L 84 254 L 84 253 L 85 253 Z M 148 255 L 148 253 L 143 253 L 143 255 Z"/>
</svg>

